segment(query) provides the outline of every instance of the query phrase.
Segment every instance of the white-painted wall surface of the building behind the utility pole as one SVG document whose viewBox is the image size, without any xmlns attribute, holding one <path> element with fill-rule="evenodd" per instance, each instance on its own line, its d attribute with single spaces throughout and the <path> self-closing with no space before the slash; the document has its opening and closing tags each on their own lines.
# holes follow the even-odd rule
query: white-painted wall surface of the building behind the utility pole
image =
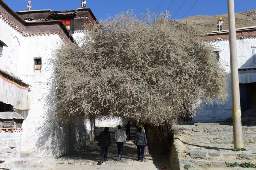
<svg viewBox="0 0 256 170">
<path fill-rule="evenodd" d="M 227 31 L 227 30 L 225 30 Z M 256 37 L 238 37 L 237 42 L 237 61 L 238 69 L 251 69 L 256 68 L 256 63 L 254 62 L 255 47 L 256 47 Z M 232 99 L 231 99 L 231 83 L 230 83 L 230 54 L 229 54 L 229 39 L 218 38 L 216 40 L 207 41 L 207 44 L 214 47 L 215 51 L 219 52 L 220 64 L 225 69 L 228 77 L 228 90 L 229 97 L 228 100 L 223 104 L 214 103 L 213 105 L 202 104 L 197 110 L 196 115 L 192 118 L 190 123 L 194 122 L 218 122 L 225 121 L 228 118 L 232 118 Z M 256 72 L 252 73 L 255 77 Z M 241 81 L 241 74 L 240 83 Z M 254 82 L 253 80 L 251 82 Z"/>
</svg>

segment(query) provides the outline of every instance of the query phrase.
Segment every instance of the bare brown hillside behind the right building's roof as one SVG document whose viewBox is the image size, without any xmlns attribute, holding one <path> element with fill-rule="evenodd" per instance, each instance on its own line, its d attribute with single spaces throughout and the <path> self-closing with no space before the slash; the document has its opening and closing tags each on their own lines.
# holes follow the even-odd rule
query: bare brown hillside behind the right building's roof
<svg viewBox="0 0 256 170">
<path fill-rule="evenodd" d="M 198 31 L 202 33 L 210 33 L 212 31 L 217 31 L 217 21 L 218 17 L 222 16 L 223 18 L 223 30 L 229 29 L 229 22 L 227 14 L 223 15 L 196 15 L 190 16 L 181 20 L 177 20 L 178 22 L 185 23 L 191 25 L 196 28 Z M 251 27 L 256 26 L 256 9 L 236 13 L 236 28 L 242 27 Z"/>
</svg>

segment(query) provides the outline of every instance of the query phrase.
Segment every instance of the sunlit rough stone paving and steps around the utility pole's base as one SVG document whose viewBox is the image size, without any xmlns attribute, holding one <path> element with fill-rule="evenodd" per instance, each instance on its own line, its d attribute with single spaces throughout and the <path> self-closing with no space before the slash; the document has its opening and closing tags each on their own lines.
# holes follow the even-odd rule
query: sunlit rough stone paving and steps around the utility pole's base
<svg viewBox="0 0 256 170">
<path fill-rule="evenodd" d="M 219 123 L 196 123 L 195 125 L 180 125 L 182 133 L 175 135 L 181 169 L 185 164 L 191 164 L 190 170 L 222 170 L 241 167 L 226 167 L 227 163 L 256 163 L 256 126 L 242 127 L 244 148 L 247 151 L 232 151 L 233 126 Z M 251 168 L 253 169 L 253 168 Z M 249 170 L 247 168 L 247 170 Z"/>
</svg>

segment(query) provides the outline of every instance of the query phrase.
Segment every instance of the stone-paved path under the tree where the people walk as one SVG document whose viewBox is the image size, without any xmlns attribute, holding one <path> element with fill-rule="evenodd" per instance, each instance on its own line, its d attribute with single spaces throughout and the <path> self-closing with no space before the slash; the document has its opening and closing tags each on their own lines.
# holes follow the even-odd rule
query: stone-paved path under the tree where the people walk
<svg viewBox="0 0 256 170">
<path fill-rule="evenodd" d="M 110 128 L 110 131 L 115 131 L 115 128 Z M 96 129 L 96 137 L 103 131 L 103 128 Z M 123 157 L 121 161 L 117 161 L 117 147 L 112 134 L 112 148 L 108 150 L 108 162 L 103 165 L 99 164 L 100 148 L 97 140 L 89 146 L 79 150 L 77 153 L 67 155 L 57 159 L 57 170 L 76 169 L 76 170 L 159 170 L 162 166 L 169 167 L 168 155 L 161 155 L 159 151 L 151 151 L 151 155 L 145 155 L 144 162 L 139 162 L 137 159 L 137 147 L 133 141 L 136 130 L 131 128 L 131 139 L 124 144 Z"/>
</svg>

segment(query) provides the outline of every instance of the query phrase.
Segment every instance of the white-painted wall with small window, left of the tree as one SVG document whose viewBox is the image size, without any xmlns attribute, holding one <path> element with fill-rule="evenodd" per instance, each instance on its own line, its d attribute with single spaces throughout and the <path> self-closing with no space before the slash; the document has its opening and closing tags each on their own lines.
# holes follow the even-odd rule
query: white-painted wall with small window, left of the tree
<svg viewBox="0 0 256 170">
<path fill-rule="evenodd" d="M 54 51 L 65 43 L 57 33 L 21 33 L 9 21 L 0 17 L 0 40 L 3 47 L 0 69 L 18 76 L 30 85 L 31 109 L 23 112 L 21 151 L 34 156 L 68 154 L 94 140 L 94 122 L 78 121 L 61 124 L 54 120 L 54 92 L 52 76 Z M 35 71 L 35 58 L 41 58 L 41 71 Z"/>
</svg>

